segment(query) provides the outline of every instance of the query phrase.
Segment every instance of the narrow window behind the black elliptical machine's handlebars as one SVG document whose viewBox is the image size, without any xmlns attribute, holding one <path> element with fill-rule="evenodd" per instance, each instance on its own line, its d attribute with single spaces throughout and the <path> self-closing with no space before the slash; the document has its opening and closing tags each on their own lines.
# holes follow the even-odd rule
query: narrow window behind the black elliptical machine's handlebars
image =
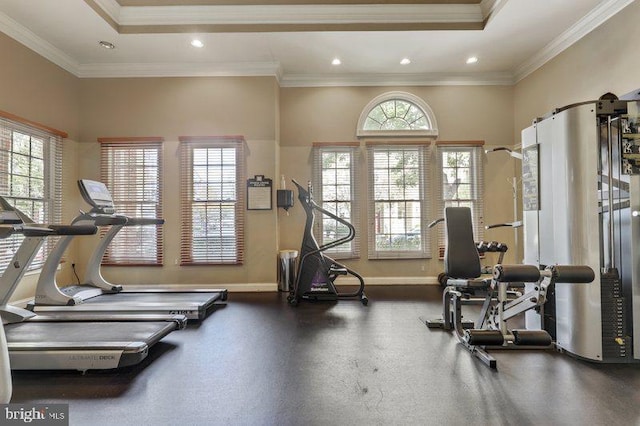
<svg viewBox="0 0 640 426">
<path fill-rule="evenodd" d="M 359 147 L 355 142 L 314 144 L 313 148 L 314 199 L 325 210 L 351 222 L 356 229 L 352 241 L 327 250 L 335 258 L 353 258 L 360 254 L 360 209 L 355 194 Z M 316 217 L 314 231 L 320 245 L 348 235 L 347 227 L 337 220 L 326 216 L 319 219 Z"/>
</svg>

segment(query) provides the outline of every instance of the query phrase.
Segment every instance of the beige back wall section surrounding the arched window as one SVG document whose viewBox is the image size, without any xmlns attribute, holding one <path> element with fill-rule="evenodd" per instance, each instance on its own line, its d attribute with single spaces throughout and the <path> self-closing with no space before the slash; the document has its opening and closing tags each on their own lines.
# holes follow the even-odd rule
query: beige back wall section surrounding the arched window
<svg viewBox="0 0 640 426">
<path fill-rule="evenodd" d="M 338 87 L 283 88 L 280 96 L 281 171 L 305 184 L 311 177 L 313 142 L 357 141 L 356 127 L 362 110 L 376 96 L 403 91 L 422 98 L 432 108 L 440 132 L 439 140 L 484 140 L 486 148 L 512 146 L 513 89 L 505 86 L 446 87 Z M 366 194 L 367 174 L 364 142 L 361 142 L 358 193 Z M 513 164 L 504 154 L 486 158 L 485 222 L 511 221 L 513 203 L 511 179 Z M 298 248 L 304 229 L 304 214 L 298 207 L 290 215 L 280 212 L 281 248 Z M 360 217 L 361 258 L 347 261 L 365 277 L 434 277 L 442 262 L 424 260 L 367 260 L 367 212 Z M 434 236 L 435 237 L 435 236 Z M 513 232 L 488 231 L 487 239 L 512 244 Z M 435 243 L 435 239 L 433 239 Z M 491 263 L 488 260 L 489 263 Z M 401 281 L 401 280 L 398 280 Z"/>
</svg>

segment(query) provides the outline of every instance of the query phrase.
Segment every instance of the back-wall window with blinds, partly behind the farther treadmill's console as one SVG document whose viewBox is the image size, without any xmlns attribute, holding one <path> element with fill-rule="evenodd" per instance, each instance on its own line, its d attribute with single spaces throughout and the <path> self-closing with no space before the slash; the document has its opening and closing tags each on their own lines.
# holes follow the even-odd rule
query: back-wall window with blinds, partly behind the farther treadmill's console
<svg viewBox="0 0 640 426">
<path fill-rule="evenodd" d="M 116 211 L 129 217 L 162 217 L 162 138 L 100 138 L 100 179 Z M 162 265 L 162 225 L 125 226 L 103 265 Z M 107 230 L 101 229 L 104 235 Z"/>
</svg>

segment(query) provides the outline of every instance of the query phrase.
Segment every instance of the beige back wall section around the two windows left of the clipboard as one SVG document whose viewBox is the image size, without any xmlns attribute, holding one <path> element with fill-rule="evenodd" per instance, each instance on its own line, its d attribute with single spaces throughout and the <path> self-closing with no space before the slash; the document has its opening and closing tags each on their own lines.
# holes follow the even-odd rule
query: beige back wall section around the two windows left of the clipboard
<svg viewBox="0 0 640 426">
<path fill-rule="evenodd" d="M 161 136 L 164 144 L 165 265 L 104 268 L 119 283 L 275 283 L 277 215 L 246 211 L 242 266 L 180 267 L 179 136 L 242 135 L 247 171 L 276 179 L 278 86 L 271 77 L 89 79 L 81 82 L 78 177 L 99 178 L 98 137 Z M 80 265 L 94 241 L 83 239 Z M 83 267 L 80 272 L 83 272 Z"/>
</svg>

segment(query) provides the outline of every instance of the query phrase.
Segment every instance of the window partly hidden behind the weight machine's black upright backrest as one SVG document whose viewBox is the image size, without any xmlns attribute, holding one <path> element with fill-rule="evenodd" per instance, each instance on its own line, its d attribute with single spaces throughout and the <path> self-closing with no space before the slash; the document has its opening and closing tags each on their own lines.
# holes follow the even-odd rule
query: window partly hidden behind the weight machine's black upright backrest
<svg viewBox="0 0 640 426">
<path fill-rule="evenodd" d="M 473 220 L 473 233 L 477 240 L 484 236 L 483 198 L 484 171 L 482 145 L 484 142 L 438 142 L 438 166 L 442 170 L 440 186 L 440 215 L 445 207 L 469 207 Z M 444 229 L 438 233 L 441 253 L 444 250 Z"/>
</svg>

